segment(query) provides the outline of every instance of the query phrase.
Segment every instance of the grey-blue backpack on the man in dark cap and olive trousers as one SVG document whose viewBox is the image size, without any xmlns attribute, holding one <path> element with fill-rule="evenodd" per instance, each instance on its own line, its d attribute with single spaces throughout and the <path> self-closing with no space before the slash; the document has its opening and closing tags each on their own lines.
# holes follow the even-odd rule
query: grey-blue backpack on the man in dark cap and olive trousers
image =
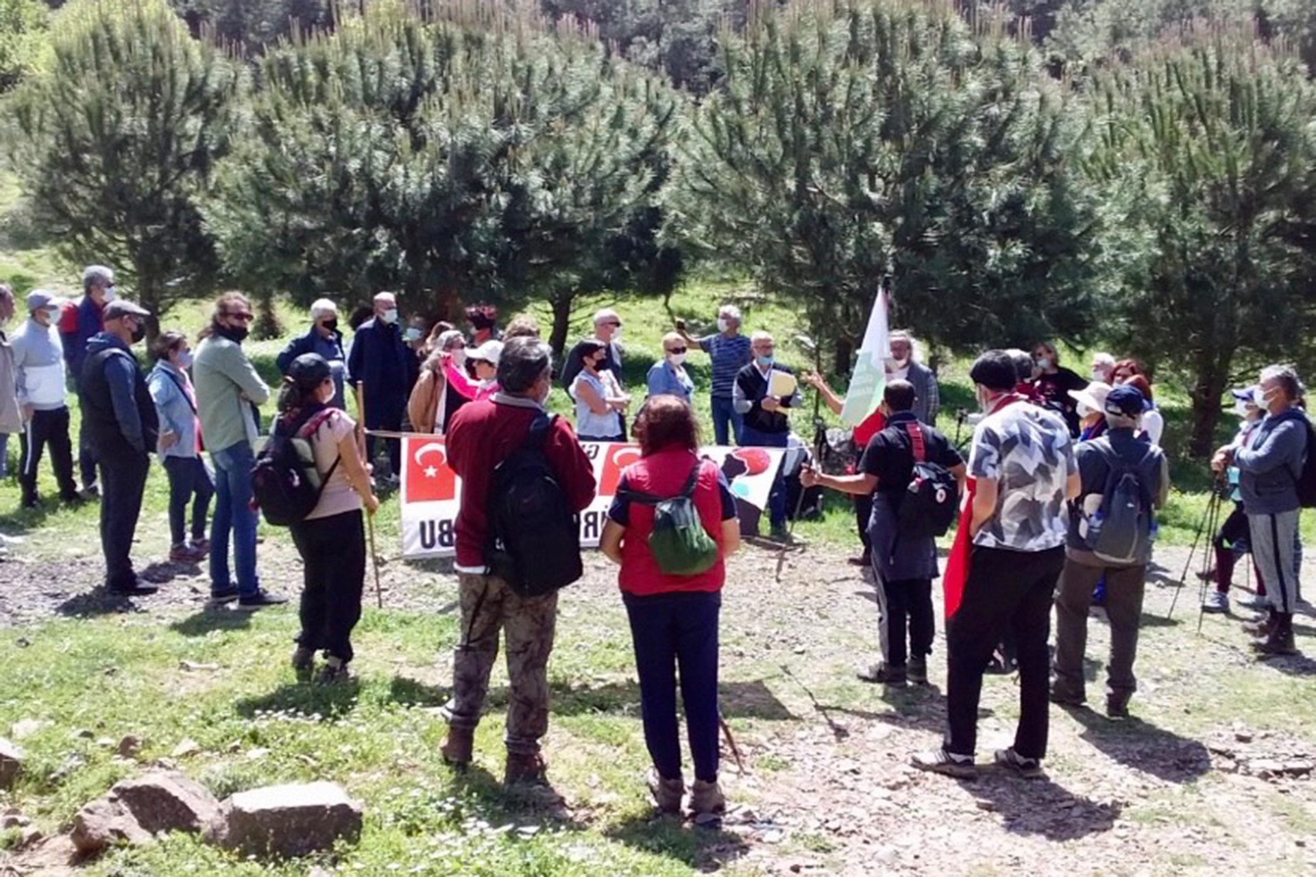
<svg viewBox="0 0 1316 877">
<path fill-rule="evenodd" d="M 1088 443 L 1104 459 L 1109 472 L 1101 489 L 1101 505 L 1087 519 L 1084 544 L 1098 560 L 1117 567 L 1146 563 L 1152 556 L 1152 488 L 1142 479 L 1142 467 L 1157 450 L 1148 447 L 1136 462 L 1115 452 L 1103 437 Z"/>
</svg>

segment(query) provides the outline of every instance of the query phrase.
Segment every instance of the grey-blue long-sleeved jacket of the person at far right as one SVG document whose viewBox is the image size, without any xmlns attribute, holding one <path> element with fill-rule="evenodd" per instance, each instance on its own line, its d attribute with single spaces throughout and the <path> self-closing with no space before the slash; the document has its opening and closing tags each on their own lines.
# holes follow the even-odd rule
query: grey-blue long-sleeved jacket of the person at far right
<svg viewBox="0 0 1316 877">
<path fill-rule="evenodd" d="M 1296 408 L 1267 414 L 1234 446 L 1238 490 L 1248 514 L 1282 514 L 1299 508 L 1298 479 L 1307 459 L 1307 415 Z"/>
</svg>

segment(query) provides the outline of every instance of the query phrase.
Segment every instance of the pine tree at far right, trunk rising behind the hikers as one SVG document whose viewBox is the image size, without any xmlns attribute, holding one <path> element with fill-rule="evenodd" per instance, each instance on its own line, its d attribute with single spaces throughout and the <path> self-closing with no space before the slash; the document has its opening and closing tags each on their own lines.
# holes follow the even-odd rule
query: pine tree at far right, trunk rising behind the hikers
<svg viewBox="0 0 1316 877">
<path fill-rule="evenodd" d="M 1192 385 L 1191 451 L 1232 380 L 1316 330 L 1316 87 L 1250 34 L 1167 42 L 1095 83 L 1088 166 L 1128 254 L 1128 348 Z"/>
</svg>

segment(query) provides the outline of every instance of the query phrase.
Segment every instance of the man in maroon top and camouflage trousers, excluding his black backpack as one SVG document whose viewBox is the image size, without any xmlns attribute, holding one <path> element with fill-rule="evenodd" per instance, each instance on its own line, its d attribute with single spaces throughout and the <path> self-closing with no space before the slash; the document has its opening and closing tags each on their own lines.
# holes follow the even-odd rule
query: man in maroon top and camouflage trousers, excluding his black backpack
<svg viewBox="0 0 1316 877">
<path fill-rule="evenodd" d="M 545 415 L 544 401 L 553 387 L 549 347 L 537 338 L 508 341 L 499 358 L 497 380 L 501 392 L 463 405 L 447 426 L 447 462 L 462 479 L 455 526 L 462 639 L 453 659 L 453 698 L 443 707 L 449 727 L 442 752 L 451 764 L 471 761 L 501 630 L 511 682 L 505 743 L 507 782 L 512 784 L 544 777 L 540 739 L 549 730 L 547 663 L 558 596 L 521 597 L 505 581 L 488 575 L 488 492 L 494 469 L 525 442 L 530 423 Z M 588 506 L 595 492 L 594 464 L 566 419 L 554 419 L 544 454 L 572 509 Z"/>
</svg>

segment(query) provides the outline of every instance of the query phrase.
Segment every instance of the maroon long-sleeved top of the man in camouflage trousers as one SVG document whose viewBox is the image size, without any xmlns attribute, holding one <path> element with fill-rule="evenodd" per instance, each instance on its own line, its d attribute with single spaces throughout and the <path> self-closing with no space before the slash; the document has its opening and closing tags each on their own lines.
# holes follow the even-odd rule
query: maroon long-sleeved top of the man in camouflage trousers
<svg viewBox="0 0 1316 877">
<path fill-rule="evenodd" d="M 488 492 L 494 468 L 521 447 L 530 423 L 544 412 L 528 398 L 499 393 L 492 400 L 463 405 L 447 423 L 447 463 L 462 479 L 462 508 L 457 513 L 457 568 L 484 568 L 488 536 Z M 594 500 L 594 464 L 584 455 L 566 418 L 549 430 L 544 454 L 549 459 L 571 509 L 580 511 Z"/>
</svg>

